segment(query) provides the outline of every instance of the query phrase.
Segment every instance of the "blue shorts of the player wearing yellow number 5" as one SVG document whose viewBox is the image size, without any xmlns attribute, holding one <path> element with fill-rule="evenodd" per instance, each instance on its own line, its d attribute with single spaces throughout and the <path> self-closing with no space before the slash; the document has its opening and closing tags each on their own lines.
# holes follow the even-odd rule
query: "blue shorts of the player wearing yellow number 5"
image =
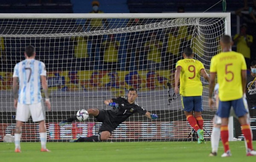
<svg viewBox="0 0 256 162">
<path fill-rule="evenodd" d="M 242 117 L 248 113 L 245 104 L 246 103 L 244 103 L 243 98 L 231 101 L 219 101 L 218 111 L 216 114 L 219 117 L 228 118 L 230 117 L 230 108 L 233 106 L 236 116 Z"/>
</svg>

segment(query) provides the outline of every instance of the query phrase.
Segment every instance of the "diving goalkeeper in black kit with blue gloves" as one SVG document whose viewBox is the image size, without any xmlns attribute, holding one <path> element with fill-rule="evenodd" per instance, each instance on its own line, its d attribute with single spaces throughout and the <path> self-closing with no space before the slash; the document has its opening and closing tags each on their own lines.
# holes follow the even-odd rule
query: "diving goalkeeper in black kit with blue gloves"
<svg viewBox="0 0 256 162">
<path fill-rule="evenodd" d="M 97 108 L 88 109 L 88 114 L 93 115 L 98 122 L 102 122 L 99 128 L 99 134 L 89 137 L 78 137 L 77 139 L 71 139 L 70 142 L 98 142 L 107 140 L 113 131 L 124 122 L 128 117 L 134 113 L 140 113 L 148 117 L 149 119 L 157 119 L 156 114 L 143 109 L 135 102 L 138 97 L 137 90 L 130 88 L 128 91 L 128 97 L 118 97 L 113 99 L 107 99 L 104 101 L 106 105 L 112 107 L 110 110 L 99 110 Z M 71 124 L 77 117 L 71 117 L 59 123 L 60 126 Z"/>
</svg>

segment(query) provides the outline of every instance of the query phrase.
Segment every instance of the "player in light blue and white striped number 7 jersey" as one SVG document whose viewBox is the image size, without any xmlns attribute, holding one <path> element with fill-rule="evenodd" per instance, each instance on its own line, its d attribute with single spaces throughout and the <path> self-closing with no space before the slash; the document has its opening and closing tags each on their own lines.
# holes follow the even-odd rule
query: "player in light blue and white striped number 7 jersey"
<svg viewBox="0 0 256 162">
<path fill-rule="evenodd" d="M 17 63 L 14 68 L 12 90 L 14 95 L 14 106 L 16 108 L 15 127 L 15 152 L 20 150 L 20 133 L 23 122 L 28 121 L 30 115 L 33 122 L 38 122 L 41 140 L 41 151 L 49 152 L 46 148 L 45 111 L 42 103 L 41 82 L 45 94 L 45 103 L 51 111 L 48 87 L 46 80 L 46 68 L 43 62 L 35 60 L 35 47 L 26 46 L 26 60 Z M 17 89 L 19 85 L 19 93 Z"/>
</svg>

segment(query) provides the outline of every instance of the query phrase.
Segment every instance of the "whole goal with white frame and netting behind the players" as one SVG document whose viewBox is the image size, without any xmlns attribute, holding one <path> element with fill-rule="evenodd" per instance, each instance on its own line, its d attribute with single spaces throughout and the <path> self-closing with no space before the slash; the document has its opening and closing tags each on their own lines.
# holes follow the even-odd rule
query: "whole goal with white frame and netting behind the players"
<svg viewBox="0 0 256 162">
<path fill-rule="evenodd" d="M 174 94 L 175 63 L 191 46 L 207 72 L 221 51 L 219 39 L 230 32 L 230 13 L 168 14 L 0 14 L 0 142 L 14 134 L 12 98 L 14 65 L 24 60 L 26 45 L 47 67 L 52 111 L 46 112 L 48 141 L 67 141 L 98 133 L 101 123 L 58 126 L 79 109 L 110 109 L 105 99 L 137 88 L 137 103 L 157 114 L 149 120 L 134 114 L 119 125 L 110 141 L 187 141 L 193 139 L 180 97 Z M 205 138 L 215 111 L 208 107 L 208 83 L 202 78 Z M 232 126 L 233 127 L 233 126 Z M 229 129 L 233 139 L 233 128 Z M 21 140 L 38 141 L 30 119 Z"/>
</svg>

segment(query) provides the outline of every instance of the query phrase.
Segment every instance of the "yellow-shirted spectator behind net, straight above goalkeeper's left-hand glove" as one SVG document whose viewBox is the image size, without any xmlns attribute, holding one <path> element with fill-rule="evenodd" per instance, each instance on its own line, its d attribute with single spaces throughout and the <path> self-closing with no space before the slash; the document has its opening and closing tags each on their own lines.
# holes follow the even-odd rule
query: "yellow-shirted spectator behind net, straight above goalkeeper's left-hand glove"
<svg viewBox="0 0 256 162">
<path fill-rule="evenodd" d="M 102 43 L 104 51 L 103 69 L 104 70 L 120 70 L 118 64 L 118 50 L 120 43 L 116 41 L 113 34 L 108 35 L 108 39 Z"/>
</svg>

